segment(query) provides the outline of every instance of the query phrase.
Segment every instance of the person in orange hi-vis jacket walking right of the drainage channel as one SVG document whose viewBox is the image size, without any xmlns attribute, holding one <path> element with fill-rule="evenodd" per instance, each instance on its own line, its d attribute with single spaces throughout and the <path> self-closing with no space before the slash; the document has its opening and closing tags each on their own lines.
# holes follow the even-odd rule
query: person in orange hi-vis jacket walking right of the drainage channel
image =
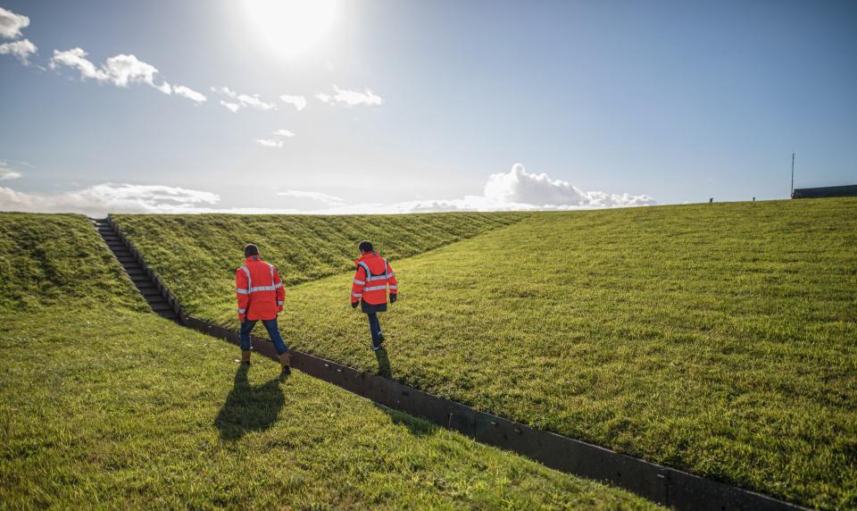
<svg viewBox="0 0 857 511">
<path fill-rule="evenodd" d="M 358 302 L 361 303 L 362 311 L 369 317 L 372 349 L 378 351 L 384 342 L 378 313 L 387 312 L 387 289 L 390 290 L 390 304 L 395 304 L 398 284 L 387 259 L 381 257 L 369 241 L 361 241 L 357 248 L 360 259 L 354 261 L 357 271 L 351 285 L 351 306 L 356 309 Z"/>
</svg>

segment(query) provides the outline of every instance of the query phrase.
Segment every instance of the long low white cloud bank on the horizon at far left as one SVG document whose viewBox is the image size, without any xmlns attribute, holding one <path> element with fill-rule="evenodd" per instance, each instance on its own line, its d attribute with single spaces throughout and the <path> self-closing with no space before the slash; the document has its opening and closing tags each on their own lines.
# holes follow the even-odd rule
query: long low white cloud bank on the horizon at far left
<svg viewBox="0 0 857 511">
<path fill-rule="evenodd" d="M 195 213 L 217 204 L 211 192 L 161 185 L 103 183 L 58 194 L 29 194 L 0 187 L 0 210 L 40 213 Z"/>
</svg>

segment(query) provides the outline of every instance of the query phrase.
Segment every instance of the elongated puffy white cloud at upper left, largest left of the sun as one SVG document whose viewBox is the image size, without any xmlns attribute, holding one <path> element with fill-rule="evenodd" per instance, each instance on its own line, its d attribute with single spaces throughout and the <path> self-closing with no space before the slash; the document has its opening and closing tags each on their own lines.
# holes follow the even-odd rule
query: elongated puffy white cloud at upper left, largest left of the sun
<svg viewBox="0 0 857 511">
<path fill-rule="evenodd" d="M 81 79 L 93 79 L 102 82 L 110 82 L 117 87 L 128 87 L 132 83 L 145 83 L 158 89 L 163 94 L 171 94 L 170 84 L 162 82 L 155 84 L 154 78 L 158 69 L 150 63 L 145 63 L 135 55 L 118 54 L 108 58 L 100 67 L 87 59 L 87 52 L 83 48 L 71 48 L 70 50 L 54 50 L 54 56 L 50 62 L 51 69 L 60 66 L 76 69 Z"/>
</svg>

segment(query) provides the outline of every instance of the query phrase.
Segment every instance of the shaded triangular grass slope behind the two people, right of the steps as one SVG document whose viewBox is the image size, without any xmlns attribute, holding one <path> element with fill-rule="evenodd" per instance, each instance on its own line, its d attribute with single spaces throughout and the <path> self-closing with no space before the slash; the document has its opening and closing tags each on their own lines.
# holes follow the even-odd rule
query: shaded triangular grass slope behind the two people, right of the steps
<svg viewBox="0 0 857 511">
<path fill-rule="evenodd" d="M 471 238 L 518 222 L 526 214 L 115 215 L 146 263 L 189 314 L 234 310 L 235 270 L 243 247 L 255 243 L 286 285 L 317 280 L 354 266 L 357 243 L 371 239 L 392 259 Z M 216 304 L 216 305 L 214 305 Z"/>
</svg>

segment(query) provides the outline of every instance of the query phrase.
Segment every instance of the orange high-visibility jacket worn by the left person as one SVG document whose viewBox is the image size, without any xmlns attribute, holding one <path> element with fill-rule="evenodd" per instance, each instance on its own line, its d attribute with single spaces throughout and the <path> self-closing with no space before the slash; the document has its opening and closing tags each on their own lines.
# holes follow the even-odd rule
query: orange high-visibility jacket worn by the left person
<svg viewBox="0 0 857 511">
<path fill-rule="evenodd" d="M 274 319 L 283 310 L 286 289 L 279 280 L 276 266 L 265 263 L 258 255 L 251 255 L 244 266 L 235 271 L 235 297 L 238 321 Z"/>
</svg>

